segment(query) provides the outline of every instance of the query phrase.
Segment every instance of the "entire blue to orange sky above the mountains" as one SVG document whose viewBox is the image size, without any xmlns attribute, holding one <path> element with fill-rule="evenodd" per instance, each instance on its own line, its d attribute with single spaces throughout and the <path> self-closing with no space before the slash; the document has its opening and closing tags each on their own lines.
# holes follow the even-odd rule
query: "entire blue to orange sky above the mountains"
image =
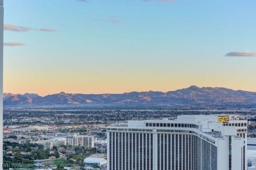
<svg viewBox="0 0 256 170">
<path fill-rule="evenodd" d="M 4 92 L 256 92 L 255 0 L 4 0 Z"/>
</svg>

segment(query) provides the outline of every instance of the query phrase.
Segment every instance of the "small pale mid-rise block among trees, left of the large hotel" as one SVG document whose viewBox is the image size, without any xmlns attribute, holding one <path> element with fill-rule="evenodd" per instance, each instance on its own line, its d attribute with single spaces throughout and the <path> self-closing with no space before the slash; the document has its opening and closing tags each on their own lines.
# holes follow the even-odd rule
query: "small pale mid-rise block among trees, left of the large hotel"
<svg viewBox="0 0 256 170">
<path fill-rule="evenodd" d="M 84 146 L 86 148 L 93 148 L 95 146 L 95 137 L 91 135 L 69 135 L 66 137 L 67 145 Z"/>
</svg>

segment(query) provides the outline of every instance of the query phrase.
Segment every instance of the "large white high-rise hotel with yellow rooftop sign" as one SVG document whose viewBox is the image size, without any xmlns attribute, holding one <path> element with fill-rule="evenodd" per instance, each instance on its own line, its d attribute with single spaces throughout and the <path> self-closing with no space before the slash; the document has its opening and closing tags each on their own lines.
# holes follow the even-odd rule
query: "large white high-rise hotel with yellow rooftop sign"
<svg viewBox="0 0 256 170">
<path fill-rule="evenodd" d="M 247 169 L 247 120 L 239 116 L 178 116 L 110 126 L 108 170 Z"/>
</svg>

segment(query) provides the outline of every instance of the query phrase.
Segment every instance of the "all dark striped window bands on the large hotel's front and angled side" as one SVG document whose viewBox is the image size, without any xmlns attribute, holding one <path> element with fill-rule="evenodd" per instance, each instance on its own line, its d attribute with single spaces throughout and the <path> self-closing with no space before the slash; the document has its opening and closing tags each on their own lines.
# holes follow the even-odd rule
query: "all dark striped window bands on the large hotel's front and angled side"
<svg viewBox="0 0 256 170">
<path fill-rule="evenodd" d="M 192 134 L 158 134 L 156 153 L 153 134 L 110 132 L 109 137 L 109 169 L 153 169 L 153 154 L 158 169 L 217 169 L 217 147 Z"/>
</svg>

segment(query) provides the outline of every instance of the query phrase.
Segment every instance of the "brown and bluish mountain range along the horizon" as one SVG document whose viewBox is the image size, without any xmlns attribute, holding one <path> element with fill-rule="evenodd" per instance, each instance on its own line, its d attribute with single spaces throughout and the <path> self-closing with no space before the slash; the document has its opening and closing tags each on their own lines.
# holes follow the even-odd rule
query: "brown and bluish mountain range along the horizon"
<svg viewBox="0 0 256 170">
<path fill-rule="evenodd" d="M 35 93 L 3 94 L 4 105 L 122 105 L 122 104 L 188 104 L 188 103 L 256 103 L 256 92 L 190 86 L 169 92 L 130 93 L 56 93 L 40 96 Z"/>
</svg>

